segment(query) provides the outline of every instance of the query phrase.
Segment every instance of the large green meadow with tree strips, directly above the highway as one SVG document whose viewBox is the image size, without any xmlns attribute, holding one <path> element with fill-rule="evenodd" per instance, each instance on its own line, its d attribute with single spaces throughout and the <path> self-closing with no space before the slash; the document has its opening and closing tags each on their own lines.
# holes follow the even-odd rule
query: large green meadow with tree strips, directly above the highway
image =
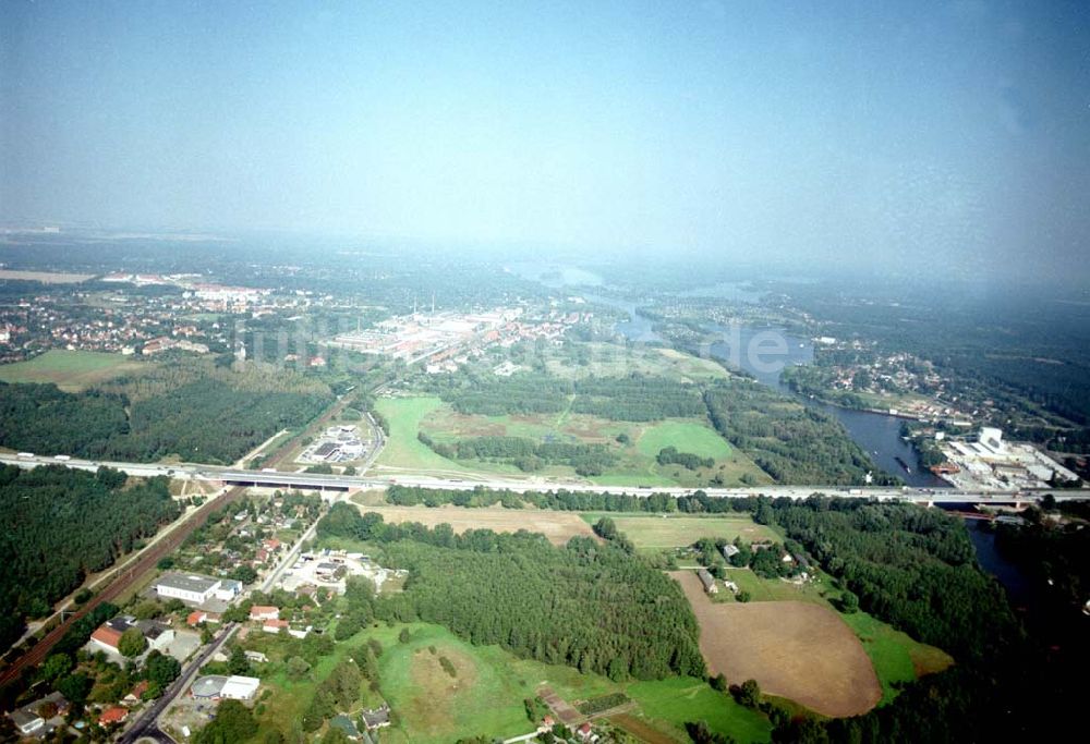
<svg viewBox="0 0 1090 744">
<path fill-rule="evenodd" d="M 707 486 L 718 476 L 724 485 L 765 484 L 772 479 L 752 460 L 731 448 L 705 422 L 668 419 L 656 423 L 615 422 L 588 414 L 561 411 L 558 414 L 505 416 L 468 415 L 456 412 L 434 397 L 380 399 L 379 413 L 390 424 L 390 436 L 376 463 L 380 472 L 412 471 L 425 475 L 504 475 L 513 478 L 550 477 L 603 486 Z M 606 444 L 617 462 L 601 476 L 581 478 L 571 467 L 550 465 L 533 474 L 506 463 L 481 460 L 455 461 L 443 458 L 421 442 L 424 431 L 439 443 L 472 437 L 507 436 L 535 442 L 567 441 Z M 623 435 L 628 442 L 620 443 Z M 702 458 L 713 458 L 711 468 L 690 471 L 680 465 L 659 465 L 658 451 L 675 447 Z M 744 478 L 744 480 L 743 480 Z"/>
</svg>

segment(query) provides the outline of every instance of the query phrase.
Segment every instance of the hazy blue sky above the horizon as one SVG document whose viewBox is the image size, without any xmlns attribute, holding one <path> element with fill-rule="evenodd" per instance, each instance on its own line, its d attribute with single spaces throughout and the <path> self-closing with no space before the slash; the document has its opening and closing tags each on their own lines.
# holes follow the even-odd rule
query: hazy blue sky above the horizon
<svg viewBox="0 0 1090 744">
<path fill-rule="evenodd" d="M 1086 2 L 0 3 L 7 225 L 1070 279 L 1087 194 Z"/>
</svg>

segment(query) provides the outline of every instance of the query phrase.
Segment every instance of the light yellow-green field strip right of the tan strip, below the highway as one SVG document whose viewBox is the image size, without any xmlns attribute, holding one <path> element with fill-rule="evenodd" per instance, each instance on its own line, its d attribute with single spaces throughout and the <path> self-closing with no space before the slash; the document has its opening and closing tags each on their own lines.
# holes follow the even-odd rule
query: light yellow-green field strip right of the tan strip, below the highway
<svg viewBox="0 0 1090 744">
<path fill-rule="evenodd" d="M 608 516 L 617 529 L 632 540 L 638 550 L 665 550 L 692 545 L 702 537 L 724 538 L 734 541 L 741 537 L 747 542 L 782 539 L 773 529 L 755 523 L 749 514 L 716 514 L 691 516 L 687 514 L 627 514 L 623 512 L 590 512 L 582 515 L 588 524 Z"/>
</svg>

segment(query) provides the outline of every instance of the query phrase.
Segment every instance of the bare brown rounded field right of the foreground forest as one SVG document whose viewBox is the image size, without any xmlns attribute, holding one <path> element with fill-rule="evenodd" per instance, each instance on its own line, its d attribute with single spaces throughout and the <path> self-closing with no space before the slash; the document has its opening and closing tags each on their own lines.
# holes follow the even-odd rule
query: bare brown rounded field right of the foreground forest
<svg viewBox="0 0 1090 744">
<path fill-rule="evenodd" d="M 714 603 L 695 573 L 675 572 L 700 622 L 712 674 L 825 716 L 857 716 L 877 705 L 882 685 L 862 643 L 835 611 L 813 602 Z"/>
</svg>

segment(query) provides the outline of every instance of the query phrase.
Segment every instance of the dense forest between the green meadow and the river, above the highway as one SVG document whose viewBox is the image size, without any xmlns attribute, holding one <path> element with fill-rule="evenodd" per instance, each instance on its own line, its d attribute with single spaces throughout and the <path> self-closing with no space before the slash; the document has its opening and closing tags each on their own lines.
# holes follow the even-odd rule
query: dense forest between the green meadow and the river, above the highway
<svg viewBox="0 0 1090 744">
<path fill-rule="evenodd" d="M 715 429 L 784 484 L 860 485 L 894 480 L 834 418 L 774 390 L 731 378 L 704 392 Z"/>
</svg>

